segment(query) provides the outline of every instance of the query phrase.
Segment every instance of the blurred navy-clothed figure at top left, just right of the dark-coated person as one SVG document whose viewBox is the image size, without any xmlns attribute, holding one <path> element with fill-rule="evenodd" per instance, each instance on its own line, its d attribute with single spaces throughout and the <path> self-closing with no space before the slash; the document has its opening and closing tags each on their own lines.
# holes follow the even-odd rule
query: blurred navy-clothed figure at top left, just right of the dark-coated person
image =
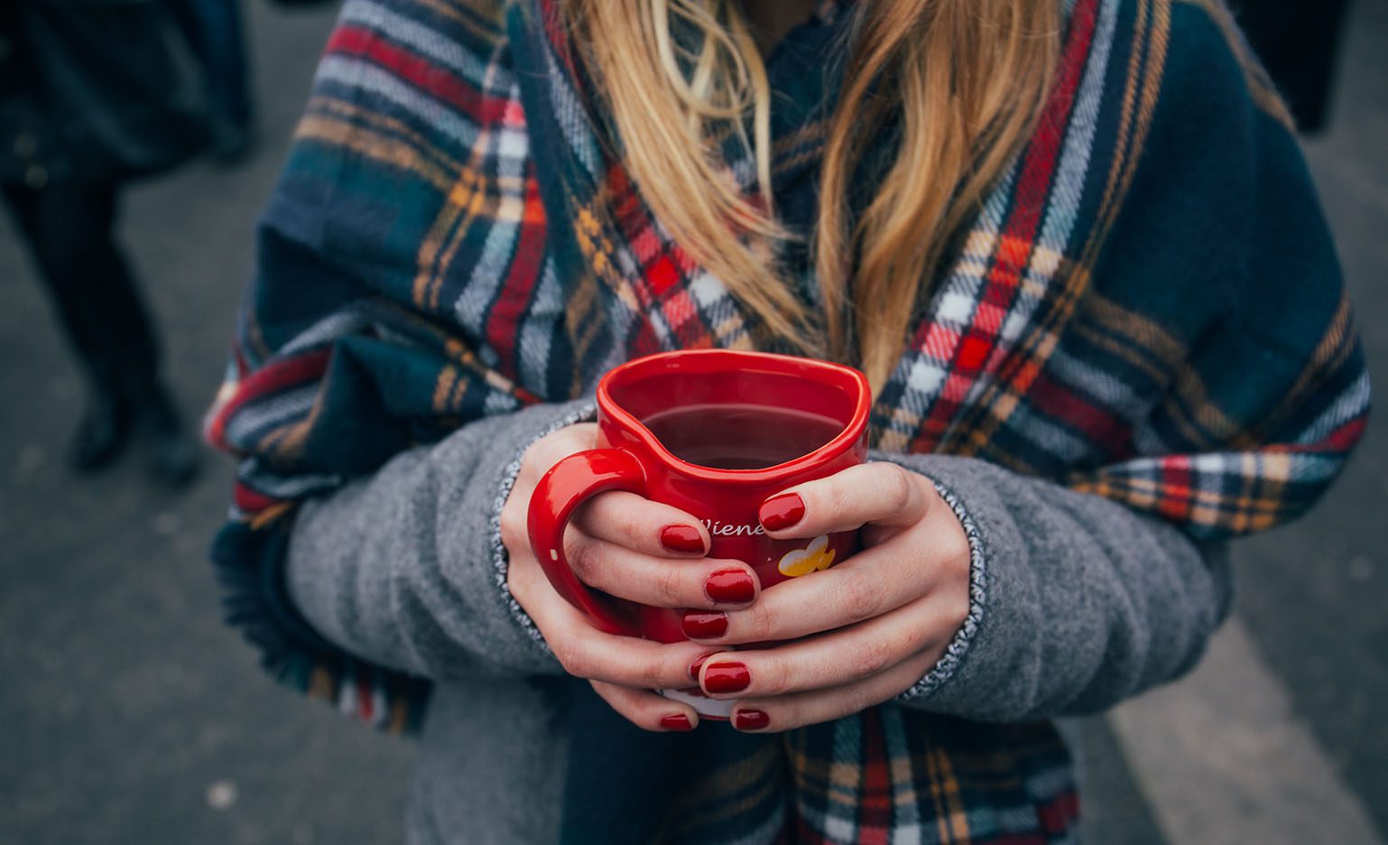
<svg viewBox="0 0 1388 845">
<path fill-rule="evenodd" d="M 240 0 L 167 0 L 203 68 L 211 153 L 236 164 L 254 143 L 250 65 Z"/>
</svg>

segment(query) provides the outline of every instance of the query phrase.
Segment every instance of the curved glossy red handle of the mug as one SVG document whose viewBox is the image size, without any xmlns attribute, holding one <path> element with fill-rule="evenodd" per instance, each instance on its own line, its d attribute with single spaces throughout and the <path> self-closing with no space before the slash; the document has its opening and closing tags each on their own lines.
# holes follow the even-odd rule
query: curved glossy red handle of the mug
<svg viewBox="0 0 1388 845">
<path fill-rule="evenodd" d="M 632 613 L 601 598 L 573 574 L 564 554 L 564 529 L 573 511 L 589 498 L 608 490 L 645 495 L 645 469 L 626 450 L 605 448 L 575 452 L 544 473 L 530 495 L 527 527 L 530 548 L 554 588 L 608 634 L 640 637 Z"/>
</svg>

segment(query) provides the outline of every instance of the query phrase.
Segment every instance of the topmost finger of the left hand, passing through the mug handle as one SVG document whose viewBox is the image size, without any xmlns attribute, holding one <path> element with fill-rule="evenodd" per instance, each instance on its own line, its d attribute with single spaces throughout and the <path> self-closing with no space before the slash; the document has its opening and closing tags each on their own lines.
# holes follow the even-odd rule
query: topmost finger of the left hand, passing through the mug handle
<svg viewBox="0 0 1388 845">
<path fill-rule="evenodd" d="M 595 495 L 573 515 L 590 537 L 662 556 L 700 556 L 709 548 L 708 529 L 679 508 L 652 502 L 634 493 Z"/>
</svg>

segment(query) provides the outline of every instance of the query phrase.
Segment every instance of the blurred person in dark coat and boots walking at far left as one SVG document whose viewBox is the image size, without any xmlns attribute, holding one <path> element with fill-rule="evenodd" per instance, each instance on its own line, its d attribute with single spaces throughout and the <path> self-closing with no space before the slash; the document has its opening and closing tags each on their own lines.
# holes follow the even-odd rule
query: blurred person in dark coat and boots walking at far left
<svg viewBox="0 0 1388 845">
<path fill-rule="evenodd" d="M 130 440 L 179 486 L 194 441 L 160 375 L 160 341 L 115 240 L 121 189 L 205 147 L 196 76 L 154 0 L 0 4 L 0 189 L 89 386 L 78 472 Z"/>
</svg>

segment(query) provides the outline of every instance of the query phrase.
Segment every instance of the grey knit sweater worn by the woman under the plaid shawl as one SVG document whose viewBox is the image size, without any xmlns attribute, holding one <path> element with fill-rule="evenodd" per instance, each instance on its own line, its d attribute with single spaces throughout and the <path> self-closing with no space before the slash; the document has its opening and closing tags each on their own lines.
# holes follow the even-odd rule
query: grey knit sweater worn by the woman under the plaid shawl
<svg viewBox="0 0 1388 845">
<path fill-rule="evenodd" d="M 507 592 L 497 520 L 526 445 L 591 402 L 471 423 L 301 509 L 290 594 L 330 641 L 437 681 L 412 844 L 550 842 L 568 740 L 525 678 L 562 669 Z M 1102 710 L 1190 669 L 1228 611 L 1221 548 L 1123 505 L 973 458 L 887 455 L 945 491 L 973 606 L 899 706 L 977 720 Z"/>
</svg>

